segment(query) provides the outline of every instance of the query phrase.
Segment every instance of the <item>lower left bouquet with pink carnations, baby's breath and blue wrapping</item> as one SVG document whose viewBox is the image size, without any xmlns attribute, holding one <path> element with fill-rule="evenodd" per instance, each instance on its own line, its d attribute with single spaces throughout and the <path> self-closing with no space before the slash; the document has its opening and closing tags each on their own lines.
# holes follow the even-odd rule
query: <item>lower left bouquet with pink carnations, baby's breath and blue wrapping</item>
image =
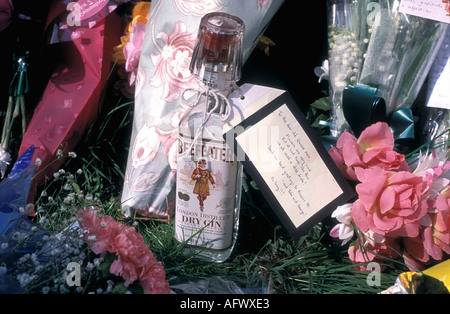
<svg viewBox="0 0 450 314">
<path fill-rule="evenodd" d="M 0 182 L 0 293 L 171 293 L 143 235 L 75 189 L 73 174 L 60 169 L 55 199 L 44 190 L 36 206 L 27 204 L 33 153 L 31 147 Z"/>
</svg>

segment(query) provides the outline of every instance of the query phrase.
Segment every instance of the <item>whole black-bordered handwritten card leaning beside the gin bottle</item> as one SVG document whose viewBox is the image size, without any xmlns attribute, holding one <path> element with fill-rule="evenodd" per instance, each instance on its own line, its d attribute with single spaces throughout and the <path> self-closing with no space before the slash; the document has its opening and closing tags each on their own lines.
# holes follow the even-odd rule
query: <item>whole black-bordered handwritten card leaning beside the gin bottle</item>
<svg viewBox="0 0 450 314">
<path fill-rule="evenodd" d="M 233 132 L 235 136 L 230 137 Z M 245 153 L 244 169 L 294 237 L 353 196 L 288 93 L 260 108 L 224 138 L 238 157 Z"/>
</svg>

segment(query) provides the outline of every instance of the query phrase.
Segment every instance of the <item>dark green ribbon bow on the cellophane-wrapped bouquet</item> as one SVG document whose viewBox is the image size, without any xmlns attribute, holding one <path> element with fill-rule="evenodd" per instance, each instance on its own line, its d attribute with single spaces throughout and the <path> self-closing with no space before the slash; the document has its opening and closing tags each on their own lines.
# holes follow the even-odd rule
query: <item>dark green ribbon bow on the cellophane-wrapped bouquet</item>
<svg viewBox="0 0 450 314">
<path fill-rule="evenodd" d="M 394 139 L 414 139 L 414 119 L 411 109 L 399 109 L 389 117 L 386 102 L 376 95 L 377 89 L 366 86 L 347 86 L 342 94 L 345 119 L 356 137 L 376 122 L 386 122 L 394 134 Z"/>
</svg>

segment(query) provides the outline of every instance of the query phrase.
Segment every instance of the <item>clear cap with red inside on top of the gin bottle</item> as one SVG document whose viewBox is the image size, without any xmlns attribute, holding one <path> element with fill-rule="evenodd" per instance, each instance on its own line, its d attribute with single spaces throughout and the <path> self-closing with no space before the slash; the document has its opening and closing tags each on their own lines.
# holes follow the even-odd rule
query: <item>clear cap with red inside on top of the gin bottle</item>
<svg viewBox="0 0 450 314">
<path fill-rule="evenodd" d="M 221 12 L 206 14 L 200 22 L 191 73 L 217 89 L 239 81 L 244 32 L 244 22 L 237 16 Z"/>
</svg>

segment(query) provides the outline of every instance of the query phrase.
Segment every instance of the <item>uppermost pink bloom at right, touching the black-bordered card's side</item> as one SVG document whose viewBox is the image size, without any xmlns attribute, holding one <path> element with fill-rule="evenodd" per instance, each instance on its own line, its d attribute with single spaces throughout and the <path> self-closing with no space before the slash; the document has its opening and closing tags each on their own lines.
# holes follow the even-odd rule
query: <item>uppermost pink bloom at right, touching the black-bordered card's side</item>
<svg viewBox="0 0 450 314">
<path fill-rule="evenodd" d="M 409 171 L 405 156 L 393 150 L 394 136 L 384 122 L 366 128 L 358 139 L 344 132 L 332 147 L 330 155 L 335 164 L 352 181 L 357 181 L 355 169 L 379 167 L 386 170 Z"/>
</svg>

